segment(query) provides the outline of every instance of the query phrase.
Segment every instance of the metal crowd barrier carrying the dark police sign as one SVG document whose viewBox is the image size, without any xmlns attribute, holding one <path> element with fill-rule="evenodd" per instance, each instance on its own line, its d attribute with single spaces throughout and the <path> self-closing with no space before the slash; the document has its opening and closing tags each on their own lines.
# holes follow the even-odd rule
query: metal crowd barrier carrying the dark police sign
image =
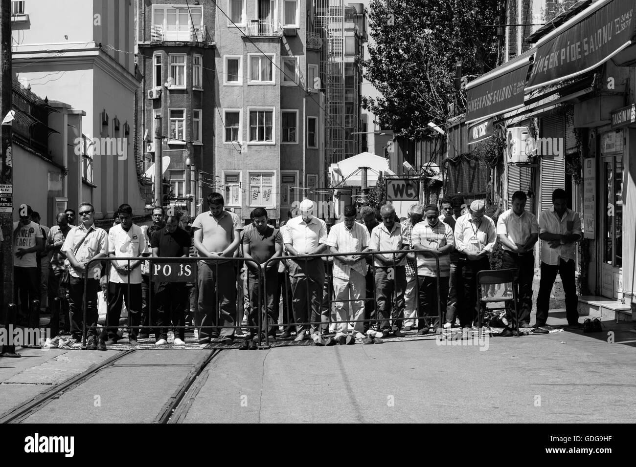
<svg viewBox="0 0 636 467">
<path fill-rule="evenodd" d="M 99 337 L 97 335 L 97 320 L 99 316 L 99 312 L 97 310 L 97 289 L 99 288 L 99 280 L 104 274 L 99 274 L 96 277 L 90 277 L 90 274 L 95 274 L 92 271 L 92 265 L 98 263 L 106 264 L 106 280 L 108 284 L 108 289 L 104 297 L 106 299 L 106 323 L 104 327 L 102 327 L 101 337 L 104 340 L 115 337 L 116 332 L 119 327 L 119 322 L 111 323 L 109 322 L 111 319 L 114 319 L 115 316 L 118 318 L 121 317 L 121 309 L 116 309 L 111 311 L 111 295 L 120 294 L 121 290 L 117 290 L 117 288 L 113 287 L 111 291 L 111 283 L 119 283 L 119 282 L 111 282 L 111 267 L 109 266 L 111 262 L 117 261 L 122 262 L 125 261 L 127 264 L 127 268 L 130 271 L 130 265 L 132 262 L 138 262 L 139 264 L 135 264 L 132 269 L 140 268 L 141 275 L 141 262 L 148 261 L 149 263 L 149 292 L 148 292 L 148 327 L 155 329 L 155 334 L 159 335 L 163 329 L 172 328 L 172 329 L 185 329 L 185 323 L 181 325 L 171 325 L 170 324 L 170 316 L 174 314 L 172 310 L 172 304 L 170 301 L 174 299 L 174 297 L 166 297 L 164 294 L 162 303 L 163 305 L 162 312 L 157 312 L 157 318 L 161 318 L 160 320 L 153 320 L 153 306 L 152 301 L 153 298 L 156 300 L 157 297 L 153 297 L 156 295 L 156 288 L 153 287 L 153 284 L 174 284 L 174 283 L 194 283 L 195 290 L 197 292 L 197 313 L 196 313 L 196 327 L 198 328 L 198 339 L 199 342 L 204 341 L 204 343 L 210 342 L 210 339 L 216 337 L 230 337 L 235 334 L 235 330 L 241 327 L 241 323 L 237 322 L 237 303 L 236 303 L 236 287 L 242 287 L 242 277 L 240 275 L 240 264 L 242 263 L 251 263 L 252 268 L 256 277 L 252 280 L 258 281 L 258 283 L 264 283 L 261 266 L 258 262 L 252 259 L 245 259 L 240 257 L 228 257 L 223 260 L 214 260 L 214 259 L 202 259 L 202 257 L 142 257 L 142 258 L 132 258 L 132 257 L 109 257 L 109 258 L 98 258 L 92 259 L 86 263 L 85 271 L 83 271 L 83 299 L 82 299 L 82 309 L 83 309 L 83 320 L 82 320 L 82 348 L 86 348 L 86 337 L 88 332 L 93 331 L 92 338 L 97 339 Z M 120 264 L 118 264 L 120 266 Z M 228 267 L 231 266 L 231 267 Z M 203 272 L 202 272 L 203 271 Z M 214 273 L 212 274 L 212 271 Z M 201 274 L 204 274 L 205 277 L 201 278 Z M 228 278 L 228 273 L 230 274 L 230 278 Z M 141 306 L 140 309 L 135 306 L 131 306 L 132 304 L 141 303 L 141 297 L 132 298 L 132 288 L 131 286 L 139 285 L 139 294 L 141 294 L 141 282 L 140 283 L 130 283 L 130 273 L 123 274 L 127 276 L 127 281 L 124 283 L 125 288 L 125 303 L 128 309 L 128 332 L 129 339 L 130 337 L 136 337 L 136 333 L 131 331 L 141 330 L 141 328 L 145 328 L 144 323 L 140 320 L 141 314 Z M 249 276 L 247 278 L 249 281 Z M 231 282 L 231 285 L 230 285 Z M 91 295 L 89 297 L 89 285 L 92 288 Z M 200 286 L 204 286 L 203 290 L 200 289 Z M 209 288 L 209 287 L 212 288 Z M 118 287 L 120 288 L 120 287 Z M 137 287 L 134 287 L 135 289 Z M 181 306 L 183 308 L 183 313 L 185 313 L 185 306 L 188 299 L 186 298 L 187 292 L 186 288 L 183 291 L 180 291 L 178 288 L 174 290 L 176 287 L 167 287 L 172 290 L 172 292 L 176 292 L 177 294 L 183 292 L 183 302 L 179 302 L 177 300 L 177 306 Z M 258 287 L 256 292 L 257 300 L 260 304 L 262 302 L 261 288 Z M 214 305 L 210 306 L 209 302 L 206 301 L 206 297 L 209 295 L 213 295 L 212 302 Z M 202 298 L 203 296 L 203 298 Z M 89 300 L 91 298 L 92 300 Z M 137 300 L 139 299 L 139 302 Z M 168 303 L 165 300 L 169 300 Z M 120 301 L 120 300 L 118 300 Z M 169 305 L 170 312 L 165 311 L 166 305 Z M 203 310 L 202 310 L 203 308 Z M 211 308 L 211 309 L 206 309 Z M 261 307 L 258 308 L 259 310 Z M 181 311 L 179 313 L 181 314 Z M 90 317 L 87 316 L 90 313 Z M 251 323 L 248 328 L 256 328 L 257 331 L 254 333 L 260 336 L 262 329 L 262 316 L 261 313 L 257 313 L 256 323 Z M 112 318 L 111 318 L 112 316 Z M 179 315 L 180 316 L 180 315 Z M 167 323 L 164 322 L 167 320 Z M 75 321 L 75 320 L 73 320 Z M 90 321 L 90 322 L 89 322 Z M 225 329 L 232 329 L 231 334 L 225 334 Z M 167 331 L 166 331 L 167 333 Z M 107 334 L 111 334 L 107 336 Z M 131 336 L 132 334 L 132 336 Z M 120 336 L 121 337 L 121 336 Z M 97 343 L 97 342 L 95 342 Z"/>
</svg>

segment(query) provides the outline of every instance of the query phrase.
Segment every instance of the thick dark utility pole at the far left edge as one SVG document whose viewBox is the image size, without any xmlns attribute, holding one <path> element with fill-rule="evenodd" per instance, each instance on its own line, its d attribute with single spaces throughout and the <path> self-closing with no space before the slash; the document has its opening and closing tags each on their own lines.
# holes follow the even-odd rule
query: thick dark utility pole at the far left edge
<svg viewBox="0 0 636 467">
<path fill-rule="evenodd" d="M 11 2 L 0 2 L 0 118 L 11 111 Z M 2 125 L 0 152 L 0 226 L 4 241 L 0 245 L 2 266 L 0 283 L 0 316 L 3 318 L 7 306 L 13 303 L 13 161 L 11 144 L 11 121 Z"/>
</svg>

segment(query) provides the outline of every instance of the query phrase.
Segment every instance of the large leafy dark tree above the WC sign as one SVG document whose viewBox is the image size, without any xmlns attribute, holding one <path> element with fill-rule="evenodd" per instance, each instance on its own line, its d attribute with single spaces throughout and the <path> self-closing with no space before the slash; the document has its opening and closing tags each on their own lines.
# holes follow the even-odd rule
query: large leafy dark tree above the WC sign
<svg viewBox="0 0 636 467">
<path fill-rule="evenodd" d="M 421 137 L 427 124 L 444 124 L 455 104 L 455 64 L 479 76 L 497 66 L 496 36 L 504 0 L 371 0 L 370 58 L 365 77 L 382 97 L 363 97 L 382 128 Z M 456 113 L 466 109 L 466 95 Z"/>
</svg>

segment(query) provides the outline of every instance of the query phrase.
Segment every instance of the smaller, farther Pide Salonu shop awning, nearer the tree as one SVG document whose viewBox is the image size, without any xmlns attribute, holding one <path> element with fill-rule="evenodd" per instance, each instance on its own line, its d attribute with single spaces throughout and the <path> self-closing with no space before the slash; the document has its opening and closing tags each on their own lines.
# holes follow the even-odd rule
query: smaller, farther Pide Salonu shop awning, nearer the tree
<svg viewBox="0 0 636 467">
<path fill-rule="evenodd" d="M 523 106 L 523 88 L 536 48 L 509 60 L 466 86 L 466 123 L 503 114 Z"/>
</svg>

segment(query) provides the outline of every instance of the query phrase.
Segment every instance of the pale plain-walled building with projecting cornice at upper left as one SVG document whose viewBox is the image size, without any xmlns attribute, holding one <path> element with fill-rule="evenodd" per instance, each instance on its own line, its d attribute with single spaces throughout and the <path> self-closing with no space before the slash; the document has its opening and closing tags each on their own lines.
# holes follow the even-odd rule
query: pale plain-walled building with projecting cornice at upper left
<svg viewBox="0 0 636 467">
<path fill-rule="evenodd" d="M 58 197 L 66 200 L 58 207 L 91 201 L 97 219 L 111 217 L 121 203 L 129 203 L 135 215 L 145 213 L 132 156 L 138 86 L 134 4 L 22 0 L 11 7 L 12 67 L 20 83 L 84 112 L 81 128 L 68 141 L 80 149 L 83 168 L 72 169 L 67 157 L 75 151 L 60 160 L 69 174 L 66 196 Z"/>
</svg>

